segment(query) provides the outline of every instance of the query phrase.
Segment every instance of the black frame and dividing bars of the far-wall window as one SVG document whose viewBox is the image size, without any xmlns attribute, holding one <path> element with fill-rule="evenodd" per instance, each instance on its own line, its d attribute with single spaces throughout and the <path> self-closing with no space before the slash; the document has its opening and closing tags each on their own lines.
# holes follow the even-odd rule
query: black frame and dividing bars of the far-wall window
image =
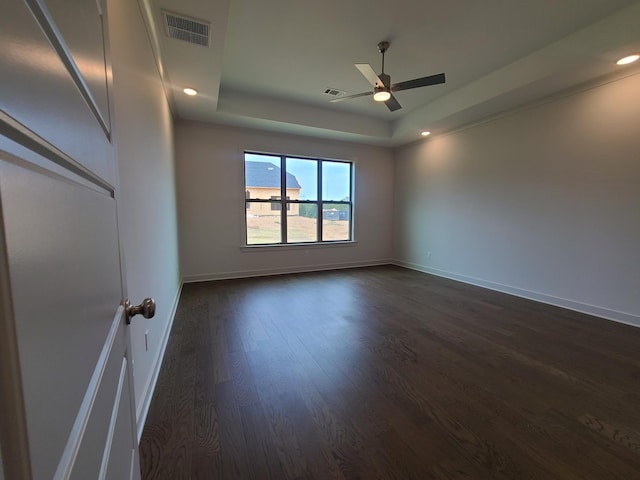
<svg viewBox="0 0 640 480">
<path fill-rule="evenodd" d="M 261 199 L 261 198 L 248 198 L 245 194 L 245 208 L 244 208 L 244 247 L 246 248 L 265 248 L 265 247 L 296 247 L 296 246 L 309 246 L 309 245 L 339 245 L 339 244 L 351 244 L 356 243 L 354 238 L 354 186 L 355 186 L 355 160 L 350 159 L 333 159 L 333 158 L 323 158 L 323 157 L 310 157 L 306 155 L 294 155 L 294 154 L 284 154 L 284 153 L 271 153 L 271 152 L 261 152 L 256 150 L 244 150 L 243 151 L 243 181 L 244 181 L 244 189 L 245 192 L 248 192 L 247 181 L 246 181 L 246 156 L 247 155 L 264 155 L 269 157 L 277 157 L 280 160 L 280 199 L 279 199 L 279 209 L 271 210 L 271 211 L 279 211 L 280 212 L 280 241 L 272 242 L 272 243 L 248 243 L 248 228 L 247 228 L 247 212 L 249 212 L 251 203 L 267 203 L 273 204 L 274 200 L 269 199 Z M 317 199 L 316 200 L 301 200 L 301 199 L 290 199 L 287 193 L 287 159 L 292 160 L 312 160 L 317 163 Z M 322 165 L 324 163 L 342 163 L 347 164 L 349 166 L 349 200 L 324 200 L 322 195 Z M 317 218 L 316 218 L 316 240 L 308 241 L 308 242 L 289 242 L 287 238 L 288 226 L 287 220 L 288 215 L 287 211 L 290 211 L 292 204 L 304 205 L 316 205 L 317 206 Z M 348 238 L 341 240 L 323 240 L 323 222 L 324 222 L 324 213 L 323 213 L 323 205 L 331 204 L 331 205 L 347 205 L 348 211 Z"/>
</svg>

